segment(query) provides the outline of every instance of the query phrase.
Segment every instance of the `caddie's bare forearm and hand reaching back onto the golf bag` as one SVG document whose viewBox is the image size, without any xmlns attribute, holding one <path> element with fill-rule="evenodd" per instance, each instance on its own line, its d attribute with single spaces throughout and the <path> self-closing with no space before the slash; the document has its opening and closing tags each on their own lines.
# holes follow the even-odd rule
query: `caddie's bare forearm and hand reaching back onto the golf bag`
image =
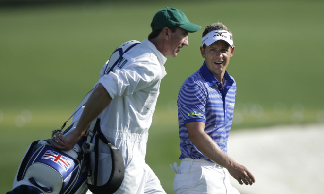
<svg viewBox="0 0 324 194">
<path fill-rule="evenodd" d="M 93 120 L 102 112 L 102 110 L 112 101 L 107 90 L 99 84 L 93 91 L 85 109 L 77 123 L 76 128 L 69 132 L 66 137 L 62 133 L 56 134 L 56 140 L 51 140 L 51 144 L 62 150 L 70 150 L 85 134 Z"/>
</svg>

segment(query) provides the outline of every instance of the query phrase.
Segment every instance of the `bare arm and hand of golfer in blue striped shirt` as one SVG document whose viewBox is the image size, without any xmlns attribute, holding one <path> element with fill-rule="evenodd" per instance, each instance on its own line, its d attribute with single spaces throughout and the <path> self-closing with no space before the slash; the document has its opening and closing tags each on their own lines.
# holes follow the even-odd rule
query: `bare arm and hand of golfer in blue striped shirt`
<svg viewBox="0 0 324 194">
<path fill-rule="evenodd" d="M 250 184 L 255 182 L 254 176 L 244 166 L 236 163 L 221 148 L 213 139 L 205 133 L 204 122 L 186 123 L 190 141 L 209 159 L 217 164 L 227 168 L 228 172 L 233 176 L 239 184 Z"/>
</svg>

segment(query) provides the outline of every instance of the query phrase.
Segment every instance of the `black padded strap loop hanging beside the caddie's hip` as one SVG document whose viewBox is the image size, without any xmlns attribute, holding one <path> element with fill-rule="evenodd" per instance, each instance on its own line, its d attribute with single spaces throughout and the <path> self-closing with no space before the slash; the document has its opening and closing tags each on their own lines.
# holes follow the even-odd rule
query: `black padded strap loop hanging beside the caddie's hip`
<svg viewBox="0 0 324 194">
<path fill-rule="evenodd" d="M 110 143 L 103 135 L 100 130 L 100 119 L 96 121 L 94 127 L 97 132 L 95 135 L 95 169 L 94 169 L 94 184 L 88 184 L 88 188 L 91 192 L 95 194 L 113 194 L 120 187 L 125 174 L 125 165 L 122 155 L 119 149 Z M 98 161 L 99 161 L 99 140 L 107 144 L 110 147 L 111 159 L 112 159 L 112 169 L 108 182 L 101 186 L 97 186 L 97 177 L 98 177 Z"/>
</svg>

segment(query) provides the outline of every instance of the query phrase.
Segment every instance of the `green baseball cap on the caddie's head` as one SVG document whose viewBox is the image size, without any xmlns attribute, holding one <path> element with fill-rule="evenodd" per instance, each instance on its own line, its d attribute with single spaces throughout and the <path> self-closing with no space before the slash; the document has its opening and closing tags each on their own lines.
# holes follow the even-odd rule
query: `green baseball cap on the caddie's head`
<svg viewBox="0 0 324 194">
<path fill-rule="evenodd" d="M 188 30 L 189 32 L 196 32 L 201 28 L 201 26 L 191 23 L 182 11 L 169 7 L 158 11 L 153 17 L 152 24 L 152 31 L 164 27 L 169 28 L 178 26 L 182 29 Z"/>
</svg>

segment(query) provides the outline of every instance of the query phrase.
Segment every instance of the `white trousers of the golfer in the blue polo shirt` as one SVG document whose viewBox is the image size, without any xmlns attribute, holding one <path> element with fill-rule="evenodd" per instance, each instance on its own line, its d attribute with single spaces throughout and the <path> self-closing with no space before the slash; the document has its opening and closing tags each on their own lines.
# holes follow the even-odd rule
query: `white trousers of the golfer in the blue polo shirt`
<svg viewBox="0 0 324 194">
<path fill-rule="evenodd" d="M 228 170 L 204 159 L 182 159 L 173 189 L 176 194 L 239 194 Z"/>
</svg>

